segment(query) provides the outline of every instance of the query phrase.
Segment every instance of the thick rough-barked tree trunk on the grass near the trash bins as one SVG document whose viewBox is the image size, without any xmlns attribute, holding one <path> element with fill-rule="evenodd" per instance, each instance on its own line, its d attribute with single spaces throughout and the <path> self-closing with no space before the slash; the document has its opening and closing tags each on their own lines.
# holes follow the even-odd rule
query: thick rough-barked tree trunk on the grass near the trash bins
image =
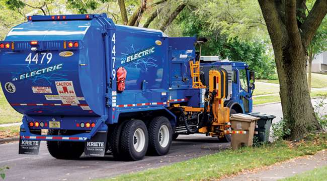
<svg viewBox="0 0 327 181">
<path fill-rule="evenodd" d="M 305 0 L 258 0 L 273 45 L 283 116 L 291 139 L 320 130 L 311 104 L 307 47 L 327 13 L 327 0 L 316 0 L 305 14 Z"/>
</svg>

